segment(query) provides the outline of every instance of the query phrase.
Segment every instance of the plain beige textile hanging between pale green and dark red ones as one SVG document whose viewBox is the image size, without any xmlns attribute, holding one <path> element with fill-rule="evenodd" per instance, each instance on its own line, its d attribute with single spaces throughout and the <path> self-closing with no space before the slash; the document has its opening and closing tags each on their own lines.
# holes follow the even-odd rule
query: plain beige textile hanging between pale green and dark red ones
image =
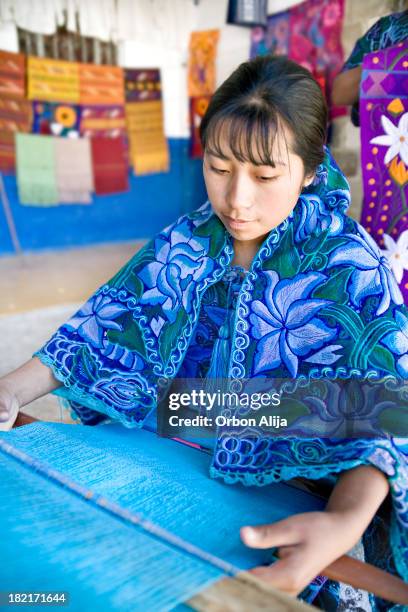
<svg viewBox="0 0 408 612">
<path fill-rule="evenodd" d="M 55 169 L 60 204 L 90 204 L 93 191 L 88 138 L 56 138 Z"/>
</svg>

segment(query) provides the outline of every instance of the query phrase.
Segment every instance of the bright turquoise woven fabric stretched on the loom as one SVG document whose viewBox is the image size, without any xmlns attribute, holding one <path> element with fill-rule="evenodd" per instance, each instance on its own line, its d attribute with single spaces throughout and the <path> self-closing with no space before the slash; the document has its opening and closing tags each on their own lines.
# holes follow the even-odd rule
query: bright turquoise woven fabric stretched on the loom
<svg viewBox="0 0 408 612">
<path fill-rule="evenodd" d="M 36 423 L 0 434 L 2 590 L 69 591 L 72 611 L 168 610 L 228 575 L 212 555 L 231 573 L 271 562 L 270 550 L 241 543 L 242 525 L 322 507 L 285 484 L 252 490 L 209 479 L 209 461 L 120 425 Z M 101 508 L 98 495 L 137 513 L 140 524 Z"/>
</svg>

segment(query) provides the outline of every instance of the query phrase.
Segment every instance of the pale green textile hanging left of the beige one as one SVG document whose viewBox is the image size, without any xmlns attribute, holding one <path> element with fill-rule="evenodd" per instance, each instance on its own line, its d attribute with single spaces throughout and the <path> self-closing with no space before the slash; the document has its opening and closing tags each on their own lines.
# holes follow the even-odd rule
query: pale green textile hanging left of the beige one
<svg viewBox="0 0 408 612">
<path fill-rule="evenodd" d="M 34 134 L 16 135 L 17 187 L 20 204 L 58 204 L 55 139 Z"/>
</svg>

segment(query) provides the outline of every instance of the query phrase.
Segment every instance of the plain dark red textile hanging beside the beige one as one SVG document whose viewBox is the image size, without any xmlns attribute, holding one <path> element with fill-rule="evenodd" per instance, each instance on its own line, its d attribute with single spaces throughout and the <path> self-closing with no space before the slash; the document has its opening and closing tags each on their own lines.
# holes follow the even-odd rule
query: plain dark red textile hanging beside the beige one
<svg viewBox="0 0 408 612">
<path fill-rule="evenodd" d="M 126 148 L 123 138 L 91 138 L 95 193 L 128 191 Z"/>
</svg>

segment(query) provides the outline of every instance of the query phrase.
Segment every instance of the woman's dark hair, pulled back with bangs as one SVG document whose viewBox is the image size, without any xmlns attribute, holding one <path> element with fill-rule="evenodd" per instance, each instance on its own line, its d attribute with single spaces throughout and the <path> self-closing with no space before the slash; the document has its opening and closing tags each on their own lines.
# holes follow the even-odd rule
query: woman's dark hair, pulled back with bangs
<svg viewBox="0 0 408 612">
<path fill-rule="evenodd" d="M 272 147 L 282 124 L 293 133 L 291 150 L 302 159 L 305 175 L 313 174 L 323 161 L 327 128 L 320 86 L 287 57 L 259 56 L 238 66 L 214 93 L 200 138 L 204 149 L 223 157 L 220 134 L 225 126 L 234 157 L 275 166 Z"/>
</svg>

